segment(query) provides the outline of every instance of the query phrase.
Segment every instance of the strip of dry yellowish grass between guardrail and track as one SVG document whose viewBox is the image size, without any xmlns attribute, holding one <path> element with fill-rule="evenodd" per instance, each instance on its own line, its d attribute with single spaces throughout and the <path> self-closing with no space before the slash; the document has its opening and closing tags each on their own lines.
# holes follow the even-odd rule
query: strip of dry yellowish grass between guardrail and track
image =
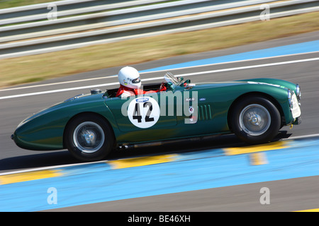
<svg viewBox="0 0 319 226">
<path fill-rule="evenodd" d="M 0 60 L 0 87 L 319 30 L 319 12 Z M 107 76 L 107 75 L 106 75 Z"/>
</svg>

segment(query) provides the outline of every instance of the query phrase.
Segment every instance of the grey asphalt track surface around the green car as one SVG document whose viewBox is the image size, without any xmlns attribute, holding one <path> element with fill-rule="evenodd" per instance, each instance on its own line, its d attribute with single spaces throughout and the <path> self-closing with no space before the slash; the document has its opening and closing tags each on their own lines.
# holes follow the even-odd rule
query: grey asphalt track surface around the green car
<svg viewBox="0 0 319 226">
<path fill-rule="evenodd" d="M 312 32 L 295 37 L 286 37 L 279 40 L 249 44 L 242 47 L 222 49 L 201 54 L 191 54 L 183 57 L 172 57 L 145 64 L 135 65 L 139 71 L 155 69 L 159 66 L 182 64 L 189 61 L 205 60 L 245 52 L 254 52 L 261 49 L 286 46 L 301 42 L 319 40 L 319 32 Z M 313 52 L 314 51 L 314 52 Z M 286 54 L 281 57 L 267 59 L 246 59 L 235 62 L 194 66 L 191 68 L 170 70 L 174 74 L 184 75 L 191 82 L 232 81 L 245 78 L 280 78 L 293 83 L 299 83 L 302 89 L 302 124 L 293 129 L 284 127 L 276 139 L 308 136 L 318 134 L 319 119 L 319 64 L 318 50 L 312 53 Z M 255 58 L 262 58 L 255 56 Z M 226 59 L 227 61 L 227 59 Z M 179 65 L 181 66 L 181 65 Z M 49 167 L 78 163 L 67 151 L 34 152 L 22 150 L 10 139 L 10 135 L 18 123 L 33 112 L 49 107 L 50 105 L 66 100 L 80 93 L 88 93 L 89 88 L 101 89 L 116 88 L 118 85 L 116 73 L 120 68 L 103 69 L 81 73 L 65 78 L 56 78 L 50 81 L 21 85 L 14 88 L 0 90 L 0 118 L 1 118 L 1 160 L 0 173 L 13 172 L 35 167 Z M 210 71 L 210 73 L 206 73 Z M 157 77 L 163 76 L 165 71 L 143 72 L 142 79 L 161 81 Z M 194 73 L 194 75 L 192 75 Z M 197 73 L 197 74 L 196 74 Z M 200 73 L 200 74 L 199 74 Z M 155 78 L 155 79 L 154 79 Z M 69 83 L 72 81 L 72 83 Z M 108 84 L 108 85 L 106 85 Z M 32 86 L 31 86 L 32 85 Z M 101 85 L 101 87 L 100 87 Z M 77 88 L 74 90 L 74 88 Z M 52 91 L 52 92 L 48 92 Z M 26 95 L 28 94 L 28 95 Z M 212 141 L 192 143 L 191 145 L 173 145 L 169 153 L 184 153 L 192 150 L 208 150 L 211 148 L 234 147 L 240 144 L 234 136 L 214 138 Z M 164 153 L 162 148 L 148 150 L 132 150 L 128 153 L 113 153 L 111 160 L 123 157 L 137 157 L 140 155 L 159 155 Z M 305 186 L 306 185 L 306 186 Z M 271 205 L 261 205 L 259 189 L 269 187 L 272 194 Z M 74 206 L 57 210 L 75 211 L 292 211 L 318 208 L 319 180 L 318 176 L 299 177 L 261 183 L 239 184 L 223 186 L 200 191 L 184 191 L 160 196 L 129 198 L 105 203 L 95 203 L 83 206 Z M 209 202 L 207 197 L 218 197 L 218 200 Z M 256 202 L 257 200 L 257 202 Z"/>
</svg>

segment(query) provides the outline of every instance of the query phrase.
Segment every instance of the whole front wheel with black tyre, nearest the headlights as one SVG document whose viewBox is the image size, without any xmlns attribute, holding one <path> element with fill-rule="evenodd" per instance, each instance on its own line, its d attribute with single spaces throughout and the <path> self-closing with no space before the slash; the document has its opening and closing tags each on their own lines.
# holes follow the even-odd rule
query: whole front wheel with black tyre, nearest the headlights
<svg viewBox="0 0 319 226">
<path fill-rule="evenodd" d="M 281 117 L 276 106 L 264 97 L 240 100 L 230 115 L 233 132 L 246 143 L 267 143 L 278 134 Z"/>
</svg>

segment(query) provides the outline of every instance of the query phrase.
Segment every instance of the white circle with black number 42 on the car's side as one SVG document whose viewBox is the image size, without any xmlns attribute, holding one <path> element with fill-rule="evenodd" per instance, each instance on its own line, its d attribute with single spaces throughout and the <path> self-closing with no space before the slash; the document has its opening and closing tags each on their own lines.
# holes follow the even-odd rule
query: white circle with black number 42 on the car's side
<svg viewBox="0 0 319 226">
<path fill-rule="evenodd" d="M 159 105 L 152 97 L 138 97 L 128 105 L 128 118 L 139 128 L 154 126 L 159 119 Z"/>
</svg>

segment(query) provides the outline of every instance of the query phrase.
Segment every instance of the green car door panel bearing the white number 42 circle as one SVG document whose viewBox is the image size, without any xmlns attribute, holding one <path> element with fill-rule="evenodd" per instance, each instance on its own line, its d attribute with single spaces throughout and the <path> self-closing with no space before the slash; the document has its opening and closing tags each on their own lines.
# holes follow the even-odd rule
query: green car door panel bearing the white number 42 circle
<svg viewBox="0 0 319 226">
<path fill-rule="evenodd" d="M 107 98 L 105 104 L 111 109 L 125 140 L 132 136 L 135 141 L 169 138 L 177 126 L 176 111 L 169 112 L 175 108 L 174 102 L 164 101 L 171 93 L 133 95 L 126 99 L 113 97 Z"/>
</svg>

